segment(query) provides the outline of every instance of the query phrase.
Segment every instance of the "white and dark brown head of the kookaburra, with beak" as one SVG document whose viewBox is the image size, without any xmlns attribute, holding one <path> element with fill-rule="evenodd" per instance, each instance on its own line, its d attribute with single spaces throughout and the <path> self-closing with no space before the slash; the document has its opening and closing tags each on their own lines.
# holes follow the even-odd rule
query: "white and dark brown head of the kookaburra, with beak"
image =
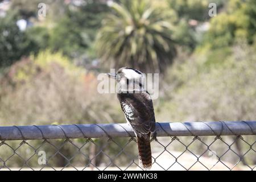
<svg viewBox="0 0 256 182">
<path fill-rule="evenodd" d="M 144 85 L 144 73 L 137 69 L 123 67 L 116 73 L 108 73 L 110 78 L 114 78 L 119 84 L 119 88 L 124 91 L 142 90 Z"/>
</svg>

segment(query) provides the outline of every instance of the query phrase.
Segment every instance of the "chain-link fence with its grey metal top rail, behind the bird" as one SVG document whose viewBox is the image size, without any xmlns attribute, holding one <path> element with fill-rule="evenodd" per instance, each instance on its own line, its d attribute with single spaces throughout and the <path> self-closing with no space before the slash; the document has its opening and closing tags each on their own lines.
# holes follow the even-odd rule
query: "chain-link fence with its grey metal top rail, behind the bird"
<svg viewBox="0 0 256 182">
<path fill-rule="evenodd" d="M 152 170 L 256 170 L 256 122 L 156 123 Z M 0 170 L 143 170 L 128 124 L 0 127 Z"/>
</svg>

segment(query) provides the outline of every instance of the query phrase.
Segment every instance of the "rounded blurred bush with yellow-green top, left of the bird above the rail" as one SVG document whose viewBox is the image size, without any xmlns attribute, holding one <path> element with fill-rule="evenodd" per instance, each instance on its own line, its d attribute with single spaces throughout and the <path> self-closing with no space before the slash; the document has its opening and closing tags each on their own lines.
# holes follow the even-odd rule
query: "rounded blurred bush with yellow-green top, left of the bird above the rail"
<svg viewBox="0 0 256 182">
<path fill-rule="evenodd" d="M 112 122 L 116 117 L 118 107 L 99 99 L 93 73 L 84 73 L 60 53 L 40 52 L 19 61 L 1 79 L 1 85 L 1 125 L 15 121 L 23 125 L 31 121 Z"/>
</svg>

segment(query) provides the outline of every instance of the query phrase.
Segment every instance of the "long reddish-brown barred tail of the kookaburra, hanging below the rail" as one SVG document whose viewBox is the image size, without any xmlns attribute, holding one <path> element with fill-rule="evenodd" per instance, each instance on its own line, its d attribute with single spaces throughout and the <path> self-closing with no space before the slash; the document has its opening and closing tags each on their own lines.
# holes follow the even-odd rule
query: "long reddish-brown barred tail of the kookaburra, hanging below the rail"
<svg viewBox="0 0 256 182">
<path fill-rule="evenodd" d="M 150 137 L 137 137 L 138 149 L 139 149 L 139 160 L 141 161 L 144 168 L 150 169 L 152 166 L 151 159 L 151 147 Z"/>
</svg>

